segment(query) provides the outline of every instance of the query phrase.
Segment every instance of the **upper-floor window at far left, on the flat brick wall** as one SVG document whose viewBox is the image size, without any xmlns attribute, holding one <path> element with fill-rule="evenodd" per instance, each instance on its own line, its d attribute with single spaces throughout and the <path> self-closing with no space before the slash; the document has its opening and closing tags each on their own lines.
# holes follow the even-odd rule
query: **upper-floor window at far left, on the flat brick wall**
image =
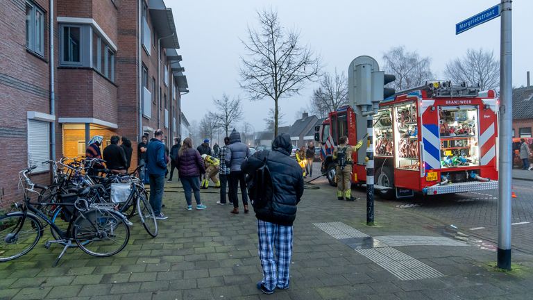
<svg viewBox="0 0 533 300">
<path fill-rule="evenodd" d="M 26 2 L 26 48 L 44 56 L 44 12 L 32 1 Z"/>
</svg>

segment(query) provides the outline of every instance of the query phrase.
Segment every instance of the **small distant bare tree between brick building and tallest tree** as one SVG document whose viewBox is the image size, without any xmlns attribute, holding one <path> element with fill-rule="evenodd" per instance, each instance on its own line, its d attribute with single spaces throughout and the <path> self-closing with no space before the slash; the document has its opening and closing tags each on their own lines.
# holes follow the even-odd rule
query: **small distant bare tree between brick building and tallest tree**
<svg viewBox="0 0 533 300">
<path fill-rule="evenodd" d="M 241 99 L 239 97 L 230 99 L 227 94 L 223 94 L 221 99 L 213 99 L 213 103 L 217 112 L 210 113 L 210 117 L 224 129 L 226 136 L 228 136 L 232 124 L 242 120 Z"/>
</svg>

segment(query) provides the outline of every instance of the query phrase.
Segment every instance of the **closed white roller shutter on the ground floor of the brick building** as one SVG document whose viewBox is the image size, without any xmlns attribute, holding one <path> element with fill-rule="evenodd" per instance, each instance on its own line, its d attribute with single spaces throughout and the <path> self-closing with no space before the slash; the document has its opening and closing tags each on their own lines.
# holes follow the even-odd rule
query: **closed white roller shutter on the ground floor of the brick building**
<svg viewBox="0 0 533 300">
<path fill-rule="evenodd" d="M 48 171 L 49 165 L 42 162 L 50 157 L 49 123 L 28 120 L 28 162 L 29 165 L 37 165 L 33 172 Z"/>
</svg>

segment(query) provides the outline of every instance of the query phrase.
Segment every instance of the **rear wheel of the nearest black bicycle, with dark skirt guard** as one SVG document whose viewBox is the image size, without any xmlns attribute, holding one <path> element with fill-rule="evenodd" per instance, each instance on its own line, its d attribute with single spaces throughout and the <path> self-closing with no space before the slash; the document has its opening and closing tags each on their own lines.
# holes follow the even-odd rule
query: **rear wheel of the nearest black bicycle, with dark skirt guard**
<svg viewBox="0 0 533 300">
<path fill-rule="evenodd" d="M 130 239 L 130 228 L 113 210 L 94 208 L 81 213 L 74 222 L 74 240 L 92 256 L 106 257 L 119 253 Z"/>
</svg>

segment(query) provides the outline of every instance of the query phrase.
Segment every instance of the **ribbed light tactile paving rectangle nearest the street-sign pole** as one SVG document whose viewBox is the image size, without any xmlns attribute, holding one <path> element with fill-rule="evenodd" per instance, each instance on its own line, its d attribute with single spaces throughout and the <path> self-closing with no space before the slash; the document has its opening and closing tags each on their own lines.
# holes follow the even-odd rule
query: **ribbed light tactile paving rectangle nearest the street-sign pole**
<svg viewBox="0 0 533 300">
<path fill-rule="evenodd" d="M 357 253 L 369 258 L 403 281 L 442 277 L 436 269 L 416 260 L 394 248 L 356 249 Z"/>
</svg>

